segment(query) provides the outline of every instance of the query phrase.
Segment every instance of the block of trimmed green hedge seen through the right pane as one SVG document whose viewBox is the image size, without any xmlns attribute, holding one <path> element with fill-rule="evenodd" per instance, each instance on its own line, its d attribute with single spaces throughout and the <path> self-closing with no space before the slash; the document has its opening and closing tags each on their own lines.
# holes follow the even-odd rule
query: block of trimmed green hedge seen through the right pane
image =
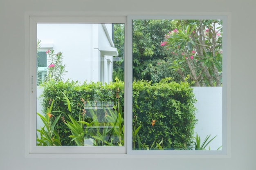
<svg viewBox="0 0 256 170">
<path fill-rule="evenodd" d="M 196 99 L 187 82 L 170 78 L 159 83 L 141 80 L 133 83 L 133 144 L 141 141 L 149 148 L 156 142 L 166 149 L 186 149 L 193 142 Z M 156 123 L 152 125 L 152 121 Z M 156 139 L 156 141 L 155 141 Z"/>
</svg>

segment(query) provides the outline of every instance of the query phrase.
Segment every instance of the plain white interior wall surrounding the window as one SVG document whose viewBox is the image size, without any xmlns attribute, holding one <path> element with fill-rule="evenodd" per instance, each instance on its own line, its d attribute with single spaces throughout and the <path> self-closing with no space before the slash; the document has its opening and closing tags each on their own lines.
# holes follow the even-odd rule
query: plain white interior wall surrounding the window
<svg viewBox="0 0 256 170">
<path fill-rule="evenodd" d="M 254 0 L 1 0 L 0 1 L 0 170 L 255 170 L 256 57 Z M 228 117 L 231 138 L 227 157 L 111 156 L 82 159 L 25 157 L 25 20 L 26 11 L 94 11 L 127 14 L 177 13 L 231 14 L 231 106 Z M 105 11 L 105 12 L 103 12 Z M 127 11 L 127 12 L 124 12 Z M 184 11 L 184 12 L 183 12 Z M 239 22 L 239 24 L 237 24 Z M 230 48 L 230 46 L 229 46 Z M 61 158 L 62 157 L 62 158 Z"/>
</svg>

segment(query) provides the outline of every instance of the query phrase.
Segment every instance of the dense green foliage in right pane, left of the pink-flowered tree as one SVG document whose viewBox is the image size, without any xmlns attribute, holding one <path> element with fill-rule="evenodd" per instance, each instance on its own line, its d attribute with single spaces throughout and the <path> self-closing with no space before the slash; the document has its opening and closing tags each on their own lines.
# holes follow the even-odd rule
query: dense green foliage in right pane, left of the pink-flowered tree
<svg viewBox="0 0 256 170">
<path fill-rule="evenodd" d="M 134 79 L 159 82 L 162 77 L 170 77 L 168 66 L 157 69 L 166 56 L 160 48 L 164 35 L 175 26 L 170 20 L 133 20 L 132 57 Z M 167 75 L 166 75 L 167 74 Z"/>
</svg>

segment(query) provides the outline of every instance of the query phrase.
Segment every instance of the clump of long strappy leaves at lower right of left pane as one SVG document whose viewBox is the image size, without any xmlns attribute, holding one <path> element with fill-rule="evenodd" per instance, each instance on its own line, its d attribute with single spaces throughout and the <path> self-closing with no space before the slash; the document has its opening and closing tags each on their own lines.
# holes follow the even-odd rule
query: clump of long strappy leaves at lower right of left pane
<svg viewBox="0 0 256 170">
<path fill-rule="evenodd" d="M 85 109 L 79 114 L 78 121 L 72 117 L 70 101 L 65 94 L 64 97 L 70 111 L 70 115 L 68 115 L 70 121 L 66 121 L 65 125 L 72 133 L 69 137 L 72 138 L 72 141 L 75 141 L 77 146 L 85 145 L 85 139 L 93 139 L 94 146 L 115 146 L 113 144 L 114 137 L 118 138 L 118 146 L 124 146 L 124 126 L 120 104 L 118 104 L 119 113 L 111 109 L 108 109 L 108 112 L 105 110 L 105 118 L 102 124 L 98 119 L 97 106 L 93 109 L 90 102 L 87 101 L 86 105 L 89 106 L 90 109 L 88 110 L 92 117 L 92 122 L 88 123 L 84 121 Z"/>
</svg>

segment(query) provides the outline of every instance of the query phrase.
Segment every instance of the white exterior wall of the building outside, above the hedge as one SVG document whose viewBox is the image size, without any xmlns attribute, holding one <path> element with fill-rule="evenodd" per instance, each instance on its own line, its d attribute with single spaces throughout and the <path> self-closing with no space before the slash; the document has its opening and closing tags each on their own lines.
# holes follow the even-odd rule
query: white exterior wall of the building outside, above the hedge
<svg viewBox="0 0 256 170">
<path fill-rule="evenodd" d="M 107 28 L 112 32 L 110 26 Z M 37 39 L 41 40 L 45 49 L 45 44 L 53 44 L 53 48 L 49 49 L 63 53 L 63 64 L 66 64 L 67 71 L 64 80 L 99 82 L 104 79 L 101 75 L 109 75 L 106 70 L 100 71 L 100 68 L 107 68 L 101 67 L 101 57 L 105 57 L 100 51 L 101 47 L 113 47 L 112 40 L 107 37 L 111 32 L 106 32 L 102 24 L 38 24 L 37 30 Z M 105 57 L 103 65 L 106 65 L 107 59 L 112 62 L 112 56 Z"/>
</svg>

